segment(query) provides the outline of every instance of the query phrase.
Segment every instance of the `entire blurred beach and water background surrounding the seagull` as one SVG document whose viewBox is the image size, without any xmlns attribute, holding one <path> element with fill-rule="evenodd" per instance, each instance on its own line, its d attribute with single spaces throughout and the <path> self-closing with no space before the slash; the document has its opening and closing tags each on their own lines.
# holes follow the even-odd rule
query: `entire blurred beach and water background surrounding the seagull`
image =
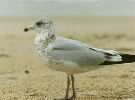
<svg viewBox="0 0 135 100">
<path fill-rule="evenodd" d="M 23 32 L 40 17 L 53 20 L 58 36 L 135 54 L 135 0 L 0 0 L 2 100 L 64 95 L 66 75 L 45 67 L 36 56 L 36 32 Z M 134 100 L 134 72 L 135 64 L 126 64 L 76 75 L 78 100 Z"/>
</svg>

